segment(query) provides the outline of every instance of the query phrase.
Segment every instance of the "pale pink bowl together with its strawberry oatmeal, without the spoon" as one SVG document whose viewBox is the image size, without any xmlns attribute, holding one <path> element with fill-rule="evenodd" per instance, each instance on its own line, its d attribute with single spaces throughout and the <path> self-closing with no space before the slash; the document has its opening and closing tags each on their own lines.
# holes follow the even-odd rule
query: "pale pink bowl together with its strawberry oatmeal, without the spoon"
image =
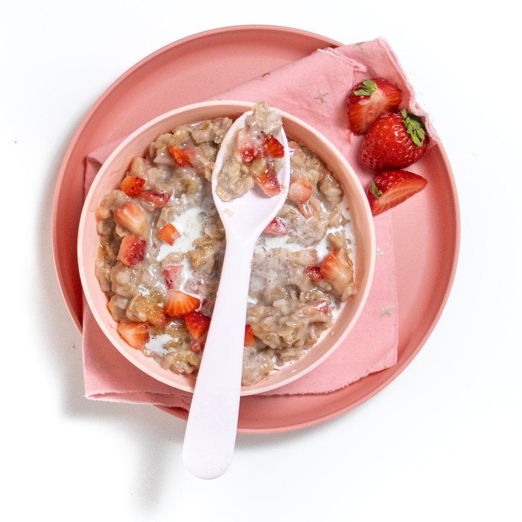
<svg viewBox="0 0 522 522">
<path fill-rule="evenodd" d="M 310 125 L 263 102 L 239 101 L 196 103 L 148 122 L 114 150 L 90 187 L 79 272 L 114 348 L 187 392 L 204 356 L 224 254 L 212 167 L 223 136 L 246 111 L 260 125 L 277 113 L 291 181 L 252 259 L 241 394 L 278 388 L 324 361 L 357 322 L 372 281 L 375 236 L 363 188 Z M 240 150 L 245 172 L 277 149 L 271 128 Z"/>
</svg>

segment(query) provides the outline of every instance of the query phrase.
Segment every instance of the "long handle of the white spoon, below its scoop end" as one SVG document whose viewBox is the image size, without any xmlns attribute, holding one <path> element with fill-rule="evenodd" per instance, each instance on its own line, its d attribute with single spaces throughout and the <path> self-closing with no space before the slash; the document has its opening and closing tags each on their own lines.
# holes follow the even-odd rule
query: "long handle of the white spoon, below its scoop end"
<svg viewBox="0 0 522 522">
<path fill-rule="evenodd" d="M 199 478 L 219 477 L 234 453 L 253 251 L 253 244 L 227 238 L 223 284 L 218 288 L 183 442 L 185 465 Z"/>
</svg>

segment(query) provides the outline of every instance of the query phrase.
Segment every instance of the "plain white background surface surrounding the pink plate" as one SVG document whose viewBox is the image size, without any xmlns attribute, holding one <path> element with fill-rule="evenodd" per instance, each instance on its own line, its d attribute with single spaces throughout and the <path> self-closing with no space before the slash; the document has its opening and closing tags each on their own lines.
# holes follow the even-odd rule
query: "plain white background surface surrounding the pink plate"
<svg viewBox="0 0 522 522">
<path fill-rule="evenodd" d="M 508 3 L 14 4 L 0 31 L 2 518 L 520 520 L 520 43 Z M 69 140 L 118 76 L 175 40 L 250 23 L 388 39 L 453 167 L 460 261 L 432 336 L 383 392 L 313 428 L 240 434 L 229 471 L 203 481 L 182 464 L 183 421 L 84 397 L 52 198 Z"/>
</svg>

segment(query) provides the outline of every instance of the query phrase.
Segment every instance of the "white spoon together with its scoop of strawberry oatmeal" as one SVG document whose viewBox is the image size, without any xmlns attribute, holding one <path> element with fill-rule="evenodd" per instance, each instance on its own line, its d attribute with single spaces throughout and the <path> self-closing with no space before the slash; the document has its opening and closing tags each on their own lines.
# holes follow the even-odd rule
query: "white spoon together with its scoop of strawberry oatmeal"
<svg viewBox="0 0 522 522">
<path fill-rule="evenodd" d="M 260 102 L 232 124 L 212 171 L 226 250 L 183 443 L 185 465 L 200 478 L 219 477 L 232 461 L 254 246 L 283 206 L 289 184 L 281 116 Z"/>
</svg>

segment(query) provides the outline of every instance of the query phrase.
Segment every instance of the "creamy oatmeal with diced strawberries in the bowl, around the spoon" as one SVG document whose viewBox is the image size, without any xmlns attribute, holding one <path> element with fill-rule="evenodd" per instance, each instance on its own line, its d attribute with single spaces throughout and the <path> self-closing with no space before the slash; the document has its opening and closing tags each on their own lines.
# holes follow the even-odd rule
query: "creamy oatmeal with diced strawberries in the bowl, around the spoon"
<svg viewBox="0 0 522 522">
<path fill-rule="evenodd" d="M 216 118 L 161 134 L 96 210 L 96 275 L 118 332 L 183 374 L 197 372 L 219 284 L 225 236 L 210 180 L 231 124 Z M 342 187 L 312 150 L 289 147 L 288 197 L 252 260 L 243 385 L 301 358 L 355 292 Z"/>
</svg>

